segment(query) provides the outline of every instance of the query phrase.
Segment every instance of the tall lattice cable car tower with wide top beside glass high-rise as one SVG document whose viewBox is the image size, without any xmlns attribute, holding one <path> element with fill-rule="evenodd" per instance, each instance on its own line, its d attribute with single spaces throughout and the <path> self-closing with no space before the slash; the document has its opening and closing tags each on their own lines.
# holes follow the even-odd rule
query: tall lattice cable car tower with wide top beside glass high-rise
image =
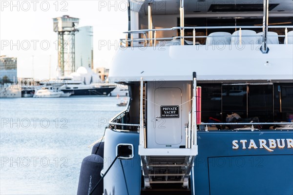
<svg viewBox="0 0 293 195">
<path fill-rule="evenodd" d="M 78 32 L 78 18 L 67 15 L 53 19 L 54 32 L 58 33 L 58 67 L 61 76 L 75 72 L 75 33 Z"/>
</svg>

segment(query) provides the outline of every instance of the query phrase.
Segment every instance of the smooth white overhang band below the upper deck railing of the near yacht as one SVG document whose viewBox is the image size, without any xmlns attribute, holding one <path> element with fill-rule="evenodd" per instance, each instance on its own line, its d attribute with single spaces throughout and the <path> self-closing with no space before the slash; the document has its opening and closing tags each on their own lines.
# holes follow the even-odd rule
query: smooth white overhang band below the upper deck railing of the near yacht
<svg viewBox="0 0 293 195">
<path fill-rule="evenodd" d="M 245 45 L 175 45 L 166 47 L 127 48 L 119 51 L 110 69 L 117 80 L 190 80 L 197 70 L 199 80 L 278 80 L 293 79 L 293 45 L 272 44 L 269 54 L 259 51 L 259 44 Z M 223 49 L 219 49 L 222 48 Z M 121 61 L 131 60 L 136 63 Z M 143 56 L 148 56 L 141 60 Z M 167 67 L 167 68 L 166 68 Z M 273 74 L 272 74 L 273 73 Z"/>
</svg>

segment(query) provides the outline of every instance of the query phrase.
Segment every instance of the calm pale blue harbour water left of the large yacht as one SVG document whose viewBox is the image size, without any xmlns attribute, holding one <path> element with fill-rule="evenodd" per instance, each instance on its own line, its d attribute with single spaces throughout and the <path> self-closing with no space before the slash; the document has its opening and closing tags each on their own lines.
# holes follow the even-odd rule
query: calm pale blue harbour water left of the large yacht
<svg viewBox="0 0 293 195">
<path fill-rule="evenodd" d="M 88 145 L 125 107 L 117 98 L 0 99 L 0 194 L 75 195 Z"/>
</svg>

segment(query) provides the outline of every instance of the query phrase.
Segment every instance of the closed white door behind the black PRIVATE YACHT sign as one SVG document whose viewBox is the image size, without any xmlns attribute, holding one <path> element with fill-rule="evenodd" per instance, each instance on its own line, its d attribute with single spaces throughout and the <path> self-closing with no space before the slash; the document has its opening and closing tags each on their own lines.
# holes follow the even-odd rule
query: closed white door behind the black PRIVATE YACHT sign
<svg viewBox="0 0 293 195">
<path fill-rule="evenodd" d="M 182 91 L 180 88 L 155 90 L 155 142 L 177 147 L 182 140 Z M 173 145 L 173 146 L 172 146 Z"/>
</svg>

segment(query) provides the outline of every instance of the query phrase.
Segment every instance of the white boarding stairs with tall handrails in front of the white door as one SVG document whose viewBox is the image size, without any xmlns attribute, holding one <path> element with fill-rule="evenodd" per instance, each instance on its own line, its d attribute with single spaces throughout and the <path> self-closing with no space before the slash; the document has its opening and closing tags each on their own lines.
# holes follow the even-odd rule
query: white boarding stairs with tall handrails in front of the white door
<svg viewBox="0 0 293 195">
<path fill-rule="evenodd" d="M 195 75 L 195 74 L 194 74 Z M 197 155 L 196 143 L 196 78 L 193 78 L 192 112 L 186 127 L 185 148 L 146 148 L 146 128 L 143 113 L 143 79 L 141 79 L 139 155 L 145 188 L 152 184 L 180 183 L 188 188 L 188 179 Z"/>
</svg>

